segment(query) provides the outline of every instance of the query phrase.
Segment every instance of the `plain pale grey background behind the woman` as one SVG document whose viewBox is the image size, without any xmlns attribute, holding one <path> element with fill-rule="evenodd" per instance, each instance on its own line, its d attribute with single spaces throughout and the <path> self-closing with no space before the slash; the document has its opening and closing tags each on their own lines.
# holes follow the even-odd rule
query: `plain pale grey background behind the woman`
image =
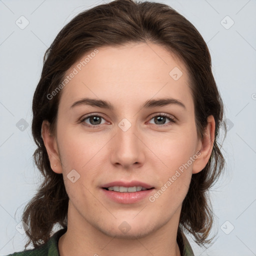
<svg viewBox="0 0 256 256">
<path fill-rule="evenodd" d="M 15 227 L 40 182 L 32 162 L 30 124 L 43 54 L 64 24 L 102 2 L 0 0 L 0 255 L 23 249 L 25 235 Z M 256 1 L 159 2 L 184 15 L 207 42 L 229 123 L 223 143 L 225 174 L 210 192 L 217 235 L 208 249 L 187 237 L 195 255 L 256 255 Z M 15 23 L 21 15 L 29 21 L 24 29 Z M 234 21 L 231 27 L 227 15 Z M 21 118 L 28 123 L 23 131 L 16 126 Z"/>
</svg>

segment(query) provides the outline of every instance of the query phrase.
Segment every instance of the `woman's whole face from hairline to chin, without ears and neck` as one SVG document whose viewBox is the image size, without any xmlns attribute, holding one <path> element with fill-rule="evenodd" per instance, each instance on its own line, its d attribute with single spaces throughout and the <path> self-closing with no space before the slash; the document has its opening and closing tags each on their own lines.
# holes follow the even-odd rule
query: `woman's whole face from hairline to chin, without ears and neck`
<svg viewBox="0 0 256 256">
<path fill-rule="evenodd" d="M 61 92 L 54 137 L 61 164 L 53 170 L 63 173 L 68 221 L 77 228 L 143 237 L 178 223 L 200 158 L 189 77 L 157 44 L 92 55 L 66 72 L 75 75 Z"/>
</svg>

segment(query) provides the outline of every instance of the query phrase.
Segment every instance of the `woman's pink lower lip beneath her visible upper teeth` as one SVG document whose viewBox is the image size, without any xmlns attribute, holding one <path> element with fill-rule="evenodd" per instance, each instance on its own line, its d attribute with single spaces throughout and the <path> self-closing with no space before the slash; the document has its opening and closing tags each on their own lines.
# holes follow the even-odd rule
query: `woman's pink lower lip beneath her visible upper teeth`
<svg viewBox="0 0 256 256">
<path fill-rule="evenodd" d="M 136 192 L 116 192 L 101 188 L 103 193 L 113 201 L 118 203 L 135 203 L 138 202 L 152 193 L 153 188 L 147 190 L 140 190 Z"/>
</svg>

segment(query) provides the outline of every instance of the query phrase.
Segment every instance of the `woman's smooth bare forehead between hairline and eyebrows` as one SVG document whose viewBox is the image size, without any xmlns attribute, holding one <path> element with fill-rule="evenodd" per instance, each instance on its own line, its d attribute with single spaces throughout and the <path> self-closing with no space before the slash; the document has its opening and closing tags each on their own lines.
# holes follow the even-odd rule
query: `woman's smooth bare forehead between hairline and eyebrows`
<svg viewBox="0 0 256 256">
<path fill-rule="evenodd" d="M 60 103 L 98 97 L 129 105 L 162 96 L 192 103 L 185 66 L 158 44 L 102 46 L 77 60 L 66 75 L 71 73 L 75 75 L 64 86 Z"/>
</svg>

